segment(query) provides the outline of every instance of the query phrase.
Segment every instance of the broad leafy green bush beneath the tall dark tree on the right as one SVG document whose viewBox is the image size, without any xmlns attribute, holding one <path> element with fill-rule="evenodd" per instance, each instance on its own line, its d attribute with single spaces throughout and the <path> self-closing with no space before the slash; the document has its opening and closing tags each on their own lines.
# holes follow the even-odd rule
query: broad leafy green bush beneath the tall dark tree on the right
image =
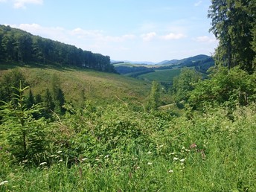
<svg viewBox="0 0 256 192">
<path fill-rule="evenodd" d="M 246 106 L 256 100 L 255 74 L 248 74 L 240 68 L 215 68 L 211 79 L 200 81 L 191 92 L 189 103 L 200 108 L 205 104 L 217 104 L 234 108 Z"/>
</svg>

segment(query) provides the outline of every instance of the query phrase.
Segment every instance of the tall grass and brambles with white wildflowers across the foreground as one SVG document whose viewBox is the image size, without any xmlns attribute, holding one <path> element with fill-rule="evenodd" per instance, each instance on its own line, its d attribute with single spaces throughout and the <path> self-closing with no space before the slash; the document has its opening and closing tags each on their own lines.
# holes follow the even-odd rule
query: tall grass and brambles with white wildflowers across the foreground
<svg viewBox="0 0 256 192">
<path fill-rule="evenodd" d="M 0 191 L 256 191 L 255 105 L 168 114 L 73 112 L 49 125 L 51 164 L 0 161 Z"/>
</svg>

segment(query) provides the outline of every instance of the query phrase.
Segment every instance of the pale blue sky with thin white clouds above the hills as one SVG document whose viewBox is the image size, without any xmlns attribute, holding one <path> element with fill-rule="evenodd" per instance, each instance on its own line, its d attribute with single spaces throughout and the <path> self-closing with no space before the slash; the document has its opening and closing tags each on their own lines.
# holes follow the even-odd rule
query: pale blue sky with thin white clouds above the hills
<svg viewBox="0 0 256 192">
<path fill-rule="evenodd" d="M 214 54 L 210 0 L 0 0 L 0 24 L 109 55 L 152 61 Z"/>
</svg>

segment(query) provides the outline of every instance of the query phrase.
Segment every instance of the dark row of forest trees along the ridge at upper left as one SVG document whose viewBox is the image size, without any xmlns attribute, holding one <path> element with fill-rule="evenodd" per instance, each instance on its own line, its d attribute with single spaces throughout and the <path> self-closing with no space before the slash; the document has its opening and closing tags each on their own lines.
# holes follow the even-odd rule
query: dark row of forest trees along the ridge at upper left
<svg viewBox="0 0 256 192">
<path fill-rule="evenodd" d="M 0 60 L 19 63 L 42 63 L 93 68 L 98 71 L 115 71 L 110 57 L 83 51 L 31 33 L 0 25 Z"/>
</svg>

